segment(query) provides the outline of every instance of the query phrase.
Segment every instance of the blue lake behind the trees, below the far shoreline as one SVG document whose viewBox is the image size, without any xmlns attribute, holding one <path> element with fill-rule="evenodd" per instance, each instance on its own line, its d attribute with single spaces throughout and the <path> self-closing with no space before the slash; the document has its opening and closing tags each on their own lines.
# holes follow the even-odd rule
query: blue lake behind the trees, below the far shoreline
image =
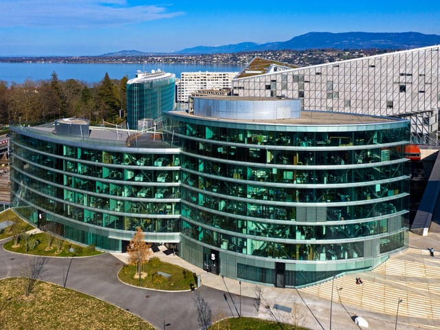
<svg viewBox="0 0 440 330">
<path fill-rule="evenodd" d="M 50 80 L 56 72 L 59 80 L 76 79 L 85 83 L 98 83 L 107 72 L 112 79 L 128 76 L 135 78 L 137 70 L 151 72 L 160 69 L 175 74 L 181 72 L 239 72 L 244 66 L 221 64 L 70 64 L 70 63 L 0 63 L 0 80 L 9 85 L 25 80 Z"/>
</svg>

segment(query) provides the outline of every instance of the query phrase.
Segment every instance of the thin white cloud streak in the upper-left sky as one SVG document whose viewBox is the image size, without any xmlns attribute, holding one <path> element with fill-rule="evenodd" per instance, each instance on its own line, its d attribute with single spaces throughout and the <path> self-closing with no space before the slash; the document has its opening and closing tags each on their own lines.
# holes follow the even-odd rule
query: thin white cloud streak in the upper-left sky
<svg viewBox="0 0 440 330">
<path fill-rule="evenodd" d="M 1 0 L 0 13 L 0 28 L 107 28 L 184 14 L 126 0 Z"/>
</svg>

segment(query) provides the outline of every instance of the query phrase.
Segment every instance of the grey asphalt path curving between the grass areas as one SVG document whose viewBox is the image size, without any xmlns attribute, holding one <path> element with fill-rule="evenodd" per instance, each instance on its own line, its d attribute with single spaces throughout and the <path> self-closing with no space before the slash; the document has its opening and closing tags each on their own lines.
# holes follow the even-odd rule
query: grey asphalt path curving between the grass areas
<svg viewBox="0 0 440 330">
<path fill-rule="evenodd" d="M 0 278 L 21 276 L 30 259 L 25 254 L 5 251 L 0 241 Z M 39 257 L 42 258 L 42 257 Z M 123 263 L 111 254 L 87 258 L 44 258 L 42 281 L 55 283 L 104 300 L 148 321 L 156 329 L 201 329 L 195 299 L 203 298 L 212 310 L 212 321 L 237 317 L 240 297 L 201 285 L 191 292 L 159 292 L 121 283 L 118 271 Z M 254 298 L 241 296 L 241 314 L 257 317 Z"/>
</svg>

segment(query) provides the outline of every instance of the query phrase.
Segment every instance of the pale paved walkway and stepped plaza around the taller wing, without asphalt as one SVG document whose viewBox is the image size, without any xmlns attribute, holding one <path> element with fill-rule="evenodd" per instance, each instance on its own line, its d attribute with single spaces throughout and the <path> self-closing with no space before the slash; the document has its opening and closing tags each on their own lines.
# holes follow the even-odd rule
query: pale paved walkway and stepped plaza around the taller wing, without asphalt
<svg viewBox="0 0 440 330">
<path fill-rule="evenodd" d="M 428 248 L 434 248 L 438 254 L 432 258 Z M 113 255 L 122 261 L 126 259 L 126 254 Z M 331 329 L 331 326 L 338 330 L 362 329 L 353 322 L 355 316 L 365 318 L 370 329 L 395 329 L 396 325 L 397 329 L 407 330 L 440 329 L 440 226 L 436 223 L 432 224 L 428 236 L 410 232 L 410 248 L 394 254 L 371 272 L 349 274 L 334 282 L 298 290 L 243 281 L 240 284 L 207 273 L 173 254 L 156 252 L 155 256 L 200 274 L 203 286 L 229 292 L 236 300 L 237 309 L 240 292 L 241 296 L 254 298 L 260 318 L 296 322 L 309 329 L 321 330 Z M 364 284 L 356 285 L 356 277 L 362 277 Z M 274 309 L 275 304 L 278 309 Z M 283 311 L 284 307 L 292 312 Z"/>
</svg>

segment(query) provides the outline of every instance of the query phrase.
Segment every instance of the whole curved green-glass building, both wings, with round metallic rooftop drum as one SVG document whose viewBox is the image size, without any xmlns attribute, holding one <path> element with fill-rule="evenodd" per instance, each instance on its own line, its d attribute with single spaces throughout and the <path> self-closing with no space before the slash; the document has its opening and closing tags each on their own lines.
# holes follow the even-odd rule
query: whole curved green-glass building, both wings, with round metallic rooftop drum
<svg viewBox="0 0 440 330">
<path fill-rule="evenodd" d="M 371 270 L 406 248 L 408 120 L 234 97 L 164 117 L 162 138 L 12 128 L 15 209 L 113 251 L 141 226 L 194 265 L 278 287 Z"/>
</svg>

